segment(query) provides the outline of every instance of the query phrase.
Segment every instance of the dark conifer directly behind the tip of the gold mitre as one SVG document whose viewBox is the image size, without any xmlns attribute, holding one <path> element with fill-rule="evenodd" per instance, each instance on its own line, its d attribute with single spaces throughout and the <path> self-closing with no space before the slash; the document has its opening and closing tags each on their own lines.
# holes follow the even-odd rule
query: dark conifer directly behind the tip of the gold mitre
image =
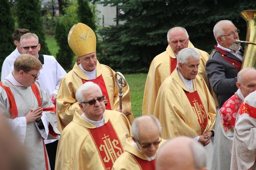
<svg viewBox="0 0 256 170">
<path fill-rule="evenodd" d="M 94 21 L 94 14 L 91 11 L 89 3 L 87 0 L 77 0 L 77 16 L 79 18 L 79 22 L 86 24 L 92 30 L 96 31 L 96 25 Z"/>
</svg>

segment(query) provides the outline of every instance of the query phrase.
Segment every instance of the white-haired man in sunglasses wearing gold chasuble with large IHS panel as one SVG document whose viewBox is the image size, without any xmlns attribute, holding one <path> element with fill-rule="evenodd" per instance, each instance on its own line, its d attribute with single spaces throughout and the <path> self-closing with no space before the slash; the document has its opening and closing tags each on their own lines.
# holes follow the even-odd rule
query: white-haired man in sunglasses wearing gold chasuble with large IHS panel
<svg viewBox="0 0 256 170">
<path fill-rule="evenodd" d="M 131 136 L 130 123 L 123 113 L 106 110 L 105 96 L 94 82 L 84 83 L 75 97 L 80 109 L 61 133 L 55 169 L 110 170 Z"/>
</svg>

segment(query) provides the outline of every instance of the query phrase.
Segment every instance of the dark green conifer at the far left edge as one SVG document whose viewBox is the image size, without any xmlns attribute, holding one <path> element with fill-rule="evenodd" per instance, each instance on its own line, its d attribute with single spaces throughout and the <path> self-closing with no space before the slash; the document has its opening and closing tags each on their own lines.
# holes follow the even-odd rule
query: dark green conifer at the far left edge
<svg viewBox="0 0 256 170">
<path fill-rule="evenodd" d="M 4 59 L 15 49 L 12 33 L 14 31 L 14 20 L 12 18 L 8 0 L 0 1 L 0 69 Z"/>
</svg>

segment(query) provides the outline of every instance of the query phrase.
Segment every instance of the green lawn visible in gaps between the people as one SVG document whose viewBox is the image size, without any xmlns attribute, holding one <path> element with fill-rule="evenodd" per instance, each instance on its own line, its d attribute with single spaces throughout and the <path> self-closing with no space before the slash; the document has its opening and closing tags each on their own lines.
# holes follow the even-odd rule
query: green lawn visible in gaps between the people
<svg viewBox="0 0 256 170">
<path fill-rule="evenodd" d="M 59 47 L 54 36 L 46 35 L 45 39 L 52 56 L 56 57 Z M 140 117 L 142 115 L 142 100 L 147 74 L 125 74 L 124 76 L 130 87 L 132 114 L 134 118 Z"/>
</svg>

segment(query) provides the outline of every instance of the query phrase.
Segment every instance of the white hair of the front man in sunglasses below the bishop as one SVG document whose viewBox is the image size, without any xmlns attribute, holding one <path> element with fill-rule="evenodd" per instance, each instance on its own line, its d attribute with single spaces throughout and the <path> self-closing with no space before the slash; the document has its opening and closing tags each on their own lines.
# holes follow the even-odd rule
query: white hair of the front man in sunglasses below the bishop
<svg viewBox="0 0 256 170">
<path fill-rule="evenodd" d="M 89 81 L 89 82 L 84 83 L 82 86 L 80 86 L 80 88 L 77 89 L 77 91 L 75 93 L 75 97 L 77 98 L 77 101 L 79 103 L 85 102 L 83 92 L 90 90 L 91 88 L 94 88 L 94 87 L 96 87 L 99 90 L 100 94 L 102 95 L 102 91 L 101 91 L 100 87 L 98 86 L 98 84 Z"/>
</svg>

